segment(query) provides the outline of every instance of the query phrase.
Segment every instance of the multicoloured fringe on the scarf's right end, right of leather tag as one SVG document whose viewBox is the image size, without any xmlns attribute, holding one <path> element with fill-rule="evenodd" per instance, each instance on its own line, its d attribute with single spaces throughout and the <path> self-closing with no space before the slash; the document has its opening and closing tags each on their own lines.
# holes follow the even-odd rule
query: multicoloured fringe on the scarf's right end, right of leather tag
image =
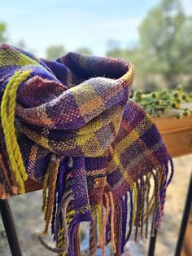
<svg viewBox="0 0 192 256">
<path fill-rule="evenodd" d="M 100 248 L 104 256 L 105 245 L 110 241 L 114 255 L 123 254 L 124 246 L 133 232 L 136 242 L 138 236 L 142 239 L 148 238 L 149 223 L 151 235 L 154 235 L 155 229 L 159 228 L 162 222 L 166 189 L 172 174 L 173 164 L 172 160 L 169 160 L 164 166 L 151 170 L 134 183 L 133 188 L 124 194 L 120 203 L 110 201 L 109 204 L 109 194 L 105 193 L 97 218 L 90 223 L 89 254 L 94 256 L 96 249 Z M 110 195 L 112 197 L 111 192 Z"/>
</svg>

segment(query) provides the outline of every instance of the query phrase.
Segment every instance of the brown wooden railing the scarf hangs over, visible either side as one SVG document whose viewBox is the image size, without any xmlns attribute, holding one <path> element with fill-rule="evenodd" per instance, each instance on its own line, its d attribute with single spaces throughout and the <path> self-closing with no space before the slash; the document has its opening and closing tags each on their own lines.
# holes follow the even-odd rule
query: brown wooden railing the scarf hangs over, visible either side
<svg viewBox="0 0 192 256">
<path fill-rule="evenodd" d="M 172 157 L 192 153 L 192 117 L 183 117 L 181 120 L 176 117 L 155 117 L 154 120 Z M 41 184 L 33 179 L 25 182 L 26 192 L 41 188 Z"/>
</svg>

